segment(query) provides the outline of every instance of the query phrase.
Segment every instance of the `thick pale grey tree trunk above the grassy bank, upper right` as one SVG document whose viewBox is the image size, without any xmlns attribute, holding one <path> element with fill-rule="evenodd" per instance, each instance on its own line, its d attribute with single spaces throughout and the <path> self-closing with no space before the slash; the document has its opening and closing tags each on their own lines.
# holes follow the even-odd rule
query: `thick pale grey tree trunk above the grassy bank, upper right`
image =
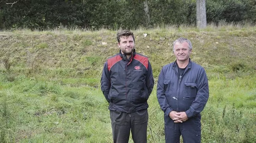
<svg viewBox="0 0 256 143">
<path fill-rule="evenodd" d="M 199 29 L 207 26 L 205 0 L 196 0 L 196 26 Z"/>
</svg>

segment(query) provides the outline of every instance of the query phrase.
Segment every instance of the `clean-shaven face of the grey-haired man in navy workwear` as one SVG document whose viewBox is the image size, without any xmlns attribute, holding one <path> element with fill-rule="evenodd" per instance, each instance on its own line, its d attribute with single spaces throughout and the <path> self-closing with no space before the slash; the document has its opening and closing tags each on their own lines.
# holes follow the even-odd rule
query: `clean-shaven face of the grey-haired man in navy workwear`
<svg viewBox="0 0 256 143">
<path fill-rule="evenodd" d="M 174 45 L 174 54 L 176 56 L 177 61 L 185 62 L 189 60 L 190 53 L 192 49 L 189 50 L 188 43 L 185 41 L 183 43 L 176 42 Z"/>
</svg>

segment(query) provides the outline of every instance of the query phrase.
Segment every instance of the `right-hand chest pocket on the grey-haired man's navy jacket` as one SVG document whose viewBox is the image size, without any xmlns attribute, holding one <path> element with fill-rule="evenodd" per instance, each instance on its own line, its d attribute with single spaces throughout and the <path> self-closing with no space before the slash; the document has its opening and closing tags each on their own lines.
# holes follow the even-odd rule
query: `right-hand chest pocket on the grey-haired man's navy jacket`
<svg viewBox="0 0 256 143">
<path fill-rule="evenodd" d="M 197 84 L 194 82 L 185 82 L 184 96 L 186 98 L 195 98 L 197 94 Z"/>
</svg>

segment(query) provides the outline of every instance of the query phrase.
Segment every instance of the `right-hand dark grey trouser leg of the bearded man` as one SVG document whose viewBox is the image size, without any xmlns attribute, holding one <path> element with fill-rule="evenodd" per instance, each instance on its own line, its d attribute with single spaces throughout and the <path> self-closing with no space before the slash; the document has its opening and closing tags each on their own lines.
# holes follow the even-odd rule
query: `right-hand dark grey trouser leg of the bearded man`
<svg viewBox="0 0 256 143">
<path fill-rule="evenodd" d="M 131 131 L 134 143 L 147 142 L 148 110 L 131 113 Z"/>
</svg>

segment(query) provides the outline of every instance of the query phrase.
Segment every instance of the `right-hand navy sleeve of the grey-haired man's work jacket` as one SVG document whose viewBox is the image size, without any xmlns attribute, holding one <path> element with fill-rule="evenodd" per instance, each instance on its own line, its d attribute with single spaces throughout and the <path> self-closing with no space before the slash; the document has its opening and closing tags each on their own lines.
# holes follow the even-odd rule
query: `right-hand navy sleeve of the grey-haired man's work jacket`
<svg viewBox="0 0 256 143">
<path fill-rule="evenodd" d="M 209 98 L 209 86 L 205 70 L 202 68 L 197 82 L 197 95 L 190 109 L 186 110 L 188 118 L 194 117 L 203 111 Z"/>
</svg>

